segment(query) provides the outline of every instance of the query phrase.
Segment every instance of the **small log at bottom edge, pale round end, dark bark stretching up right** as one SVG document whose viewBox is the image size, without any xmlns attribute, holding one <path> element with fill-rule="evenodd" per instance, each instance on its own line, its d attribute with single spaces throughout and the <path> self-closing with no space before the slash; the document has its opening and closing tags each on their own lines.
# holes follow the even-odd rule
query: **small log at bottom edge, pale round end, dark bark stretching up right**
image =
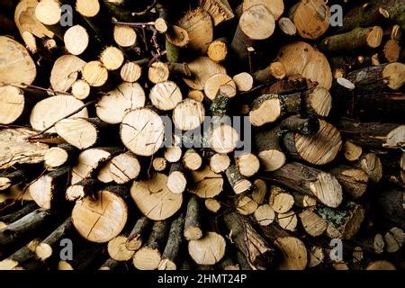
<svg viewBox="0 0 405 288">
<path fill-rule="evenodd" d="M 133 265 L 139 270 L 155 270 L 162 261 L 161 252 L 167 238 L 170 222 L 156 221 L 148 238 L 148 243 L 141 247 L 134 255 Z"/>
</svg>

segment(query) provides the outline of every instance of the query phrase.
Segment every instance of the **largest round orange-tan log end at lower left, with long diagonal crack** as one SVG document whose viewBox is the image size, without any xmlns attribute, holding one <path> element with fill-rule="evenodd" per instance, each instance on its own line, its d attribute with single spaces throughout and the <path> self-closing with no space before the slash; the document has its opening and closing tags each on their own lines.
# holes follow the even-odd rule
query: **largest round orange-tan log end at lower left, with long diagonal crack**
<svg viewBox="0 0 405 288">
<path fill-rule="evenodd" d="M 99 190 L 93 197 L 76 202 L 72 221 L 77 232 L 89 241 L 105 243 L 117 237 L 128 218 L 127 204 L 114 187 Z"/>
</svg>

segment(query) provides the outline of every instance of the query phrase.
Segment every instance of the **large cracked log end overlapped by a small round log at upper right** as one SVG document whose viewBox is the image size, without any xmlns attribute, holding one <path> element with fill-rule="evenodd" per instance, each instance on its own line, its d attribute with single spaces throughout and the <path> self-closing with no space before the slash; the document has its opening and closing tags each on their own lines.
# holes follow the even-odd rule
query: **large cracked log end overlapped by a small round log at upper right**
<svg viewBox="0 0 405 288">
<path fill-rule="evenodd" d="M 178 211 L 183 202 L 182 193 L 171 193 L 167 176 L 157 173 L 148 180 L 134 181 L 130 195 L 141 211 L 150 220 L 166 220 Z"/>
</svg>

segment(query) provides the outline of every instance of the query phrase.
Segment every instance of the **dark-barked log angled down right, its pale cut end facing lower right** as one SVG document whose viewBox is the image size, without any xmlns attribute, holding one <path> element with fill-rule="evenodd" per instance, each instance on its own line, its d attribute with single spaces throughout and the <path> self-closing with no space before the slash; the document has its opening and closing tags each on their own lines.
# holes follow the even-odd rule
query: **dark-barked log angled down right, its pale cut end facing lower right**
<svg viewBox="0 0 405 288">
<path fill-rule="evenodd" d="M 342 187 L 335 176 L 310 166 L 292 162 L 266 177 L 275 181 L 275 184 L 315 197 L 332 208 L 342 202 Z"/>
</svg>

